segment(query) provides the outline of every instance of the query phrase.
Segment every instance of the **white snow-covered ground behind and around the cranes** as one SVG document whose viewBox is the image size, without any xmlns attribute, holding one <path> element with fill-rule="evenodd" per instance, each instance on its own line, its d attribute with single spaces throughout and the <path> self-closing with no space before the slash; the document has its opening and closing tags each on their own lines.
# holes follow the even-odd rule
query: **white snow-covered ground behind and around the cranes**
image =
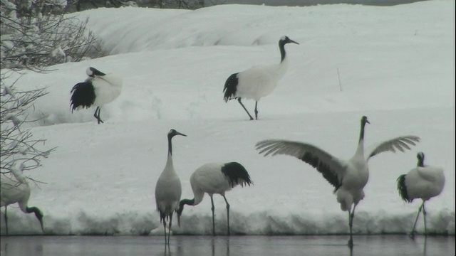
<svg viewBox="0 0 456 256">
<path fill-rule="evenodd" d="M 57 146 L 43 167 L 26 171 L 30 206 L 44 213 L 46 234 L 162 235 L 155 183 L 165 167 L 167 132 L 182 198 L 192 198 L 190 176 L 207 162 L 238 161 L 253 186 L 227 193 L 234 234 L 347 234 L 333 187 L 291 156 L 264 157 L 262 139 L 309 142 L 342 159 L 356 149 L 366 115 L 366 146 L 402 135 L 422 142 L 404 153 L 370 161 L 366 197 L 356 208 L 354 233 L 410 231 L 420 201 L 405 203 L 396 179 L 417 163 L 445 170 L 445 188 L 426 203 L 430 233 L 455 234 L 455 1 L 399 6 L 334 4 L 308 7 L 213 6 L 196 11 L 119 8 L 78 14 L 110 56 L 24 72 L 16 87 L 48 87 L 28 112 L 33 136 Z M 223 101 L 229 75 L 279 63 L 278 41 L 289 36 L 289 69 L 259 102 L 249 121 L 235 101 Z M 118 99 L 71 114 L 70 90 L 86 68 L 123 77 Z M 4 72 L 6 70 L 2 70 Z M 11 78 L 16 79 L 16 76 Z M 340 82 L 339 82 L 340 80 Z M 244 105 L 253 114 L 254 102 Z M 226 208 L 214 196 L 216 231 L 225 234 Z M 41 234 L 33 214 L 9 210 L 10 234 Z M 3 213 L 1 234 L 4 234 Z M 174 234 L 211 234 L 210 200 L 187 206 Z M 161 231 L 160 231 L 161 230 Z M 423 233 L 423 219 L 418 232 Z"/>
</svg>

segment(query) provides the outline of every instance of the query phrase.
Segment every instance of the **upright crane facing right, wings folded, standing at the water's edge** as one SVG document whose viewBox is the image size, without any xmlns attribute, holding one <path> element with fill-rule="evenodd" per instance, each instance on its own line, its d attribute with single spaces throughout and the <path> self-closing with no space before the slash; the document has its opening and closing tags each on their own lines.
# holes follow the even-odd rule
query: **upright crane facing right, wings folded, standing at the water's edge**
<svg viewBox="0 0 456 256">
<path fill-rule="evenodd" d="M 157 211 L 160 213 L 160 223 L 163 223 L 165 229 L 165 244 L 170 243 L 170 233 L 172 224 L 172 213 L 179 207 L 180 196 L 182 194 L 182 186 L 180 185 L 180 178 L 172 164 L 172 137 L 176 135 L 187 136 L 175 129 L 170 129 L 167 134 L 168 138 L 168 156 L 162 174 L 158 177 L 157 184 L 155 185 L 155 203 Z M 166 221 L 169 220 L 168 239 L 166 240 Z"/>
</svg>

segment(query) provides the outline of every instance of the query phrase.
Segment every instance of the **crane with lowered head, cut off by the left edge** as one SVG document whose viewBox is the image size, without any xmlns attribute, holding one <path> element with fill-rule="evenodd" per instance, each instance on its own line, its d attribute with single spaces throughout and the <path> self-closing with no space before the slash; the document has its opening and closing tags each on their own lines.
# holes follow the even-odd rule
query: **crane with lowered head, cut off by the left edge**
<svg viewBox="0 0 456 256">
<path fill-rule="evenodd" d="M 5 207 L 5 227 L 6 235 L 8 235 L 8 215 L 7 207 L 11 204 L 18 203 L 23 213 L 35 213 L 38 219 L 41 230 L 43 228 L 43 213 L 37 207 L 29 207 L 28 199 L 30 198 L 30 186 L 26 178 L 21 173 L 22 170 L 12 169 L 13 176 L 6 176 L 6 174 L 0 175 L 0 207 Z"/>
</svg>

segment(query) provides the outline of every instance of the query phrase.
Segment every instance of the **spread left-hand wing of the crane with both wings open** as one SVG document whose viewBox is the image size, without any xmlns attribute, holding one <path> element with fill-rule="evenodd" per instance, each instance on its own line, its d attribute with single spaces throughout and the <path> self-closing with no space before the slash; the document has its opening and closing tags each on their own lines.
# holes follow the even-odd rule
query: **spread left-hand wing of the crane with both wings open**
<svg viewBox="0 0 456 256">
<path fill-rule="evenodd" d="M 286 154 L 301 159 L 317 169 L 323 178 L 334 186 L 334 191 L 342 186 L 342 179 L 346 174 L 346 163 L 316 146 L 301 142 L 266 139 L 258 142 L 256 149 L 259 154 L 264 154 L 264 156 Z"/>
</svg>

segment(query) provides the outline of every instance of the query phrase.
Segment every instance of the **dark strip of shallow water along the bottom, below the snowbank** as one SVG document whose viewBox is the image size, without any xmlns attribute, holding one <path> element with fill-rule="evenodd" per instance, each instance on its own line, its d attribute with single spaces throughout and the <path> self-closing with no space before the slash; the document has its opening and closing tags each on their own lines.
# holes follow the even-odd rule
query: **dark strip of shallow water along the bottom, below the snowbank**
<svg viewBox="0 0 456 256">
<path fill-rule="evenodd" d="M 2 256 L 73 255 L 455 255 L 455 237 L 347 236 L 13 236 L 1 237 Z"/>
</svg>

